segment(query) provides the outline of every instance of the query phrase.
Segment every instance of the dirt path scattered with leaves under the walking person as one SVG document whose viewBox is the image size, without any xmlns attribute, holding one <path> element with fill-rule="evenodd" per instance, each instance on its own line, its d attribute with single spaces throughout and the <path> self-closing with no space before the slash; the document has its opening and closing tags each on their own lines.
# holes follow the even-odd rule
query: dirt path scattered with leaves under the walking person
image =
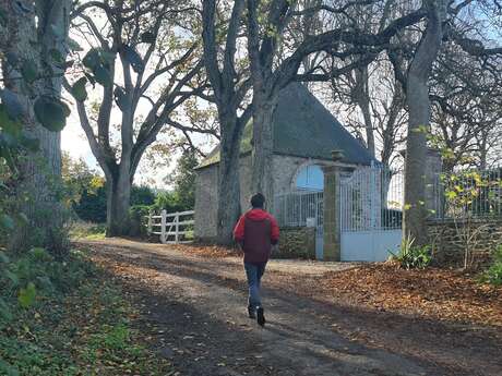
<svg viewBox="0 0 502 376">
<path fill-rule="evenodd" d="M 246 316 L 237 258 L 125 240 L 82 245 L 138 296 L 145 328 L 158 328 L 158 350 L 179 375 L 502 375 L 502 339 L 490 329 L 295 293 L 306 276 L 350 265 L 272 263 L 264 278 L 262 329 Z"/>
</svg>

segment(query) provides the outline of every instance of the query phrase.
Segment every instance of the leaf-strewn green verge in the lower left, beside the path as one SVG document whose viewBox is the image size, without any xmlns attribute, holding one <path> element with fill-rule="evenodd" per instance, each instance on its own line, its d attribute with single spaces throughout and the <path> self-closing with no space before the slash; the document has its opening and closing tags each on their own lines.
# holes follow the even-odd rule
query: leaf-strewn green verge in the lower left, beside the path
<svg viewBox="0 0 502 376">
<path fill-rule="evenodd" d="M 120 284 L 84 253 L 56 262 L 35 250 L 3 256 L 0 269 L 0 375 L 174 373 L 135 328 Z"/>
</svg>

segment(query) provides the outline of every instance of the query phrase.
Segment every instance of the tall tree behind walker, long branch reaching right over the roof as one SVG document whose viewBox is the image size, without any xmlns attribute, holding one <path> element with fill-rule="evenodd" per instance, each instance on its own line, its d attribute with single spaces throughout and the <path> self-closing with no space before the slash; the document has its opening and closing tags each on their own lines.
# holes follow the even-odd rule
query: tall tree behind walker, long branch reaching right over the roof
<svg viewBox="0 0 502 376">
<path fill-rule="evenodd" d="M 296 10 L 296 1 L 275 0 L 262 2 L 248 0 L 248 53 L 253 80 L 253 184 L 255 190 L 273 197 L 272 180 L 272 116 L 276 98 L 282 88 L 292 81 L 328 81 L 355 69 L 364 71 L 391 39 L 405 27 L 417 24 L 425 15 L 422 9 L 395 17 L 375 33 L 360 29 L 348 16 L 355 7 L 371 4 L 373 1 L 354 1 L 331 7 L 313 4 L 312 9 Z M 312 12 L 328 12 L 340 15 L 342 22 L 333 24 L 328 31 L 308 35 L 292 46 L 286 58 L 277 59 L 284 31 L 291 17 Z M 265 16 L 266 14 L 266 16 Z M 264 20 L 264 21 L 261 21 Z M 284 54 L 284 50 L 280 49 Z M 314 66 L 309 72 L 298 74 L 306 57 L 324 51 L 336 57 L 338 65 L 326 71 Z M 319 70 L 319 71 L 318 71 Z"/>
</svg>

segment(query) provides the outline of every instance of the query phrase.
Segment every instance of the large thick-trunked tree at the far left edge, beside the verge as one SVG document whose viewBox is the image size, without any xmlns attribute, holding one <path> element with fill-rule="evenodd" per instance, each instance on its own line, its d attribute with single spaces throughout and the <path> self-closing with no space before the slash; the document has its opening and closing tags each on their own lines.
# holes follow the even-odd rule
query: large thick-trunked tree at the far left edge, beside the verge
<svg viewBox="0 0 502 376">
<path fill-rule="evenodd" d="M 19 160 L 19 210 L 28 221 L 20 222 L 14 232 L 11 246 L 16 250 L 35 244 L 56 254 L 65 252 L 58 195 L 59 131 L 69 113 L 60 97 L 61 78 L 69 66 L 65 59 L 71 10 L 71 0 L 0 1 L 2 102 L 8 107 L 20 105 L 16 111 L 22 113 L 24 135 L 38 140 L 39 145 L 37 151 L 33 148 Z"/>
</svg>

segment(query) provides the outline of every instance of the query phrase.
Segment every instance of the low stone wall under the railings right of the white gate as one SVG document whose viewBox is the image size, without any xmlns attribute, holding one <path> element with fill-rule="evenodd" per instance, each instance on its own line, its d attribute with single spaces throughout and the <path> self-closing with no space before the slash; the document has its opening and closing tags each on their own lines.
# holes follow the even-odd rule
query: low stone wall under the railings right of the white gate
<svg viewBox="0 0 502 376">
<path fill-rule="evenodd" d="M 490 262 L 490 253 L 502 244 L 502 219 L 475 220 L 470 222 L 470 234 L 475 234 L 471 241 L 475 250 L 475 267 Z M 434 259 L 441 266 L 461 267 L 464 265 L 465 241 L 459 229 L 466 229 L 469 225 L 453 220 L 429 221 L 430 243 L 433 245 Z M 465 231 L 465 230 L 461 230 Z M 465 238 L 464 238 L 465 239 Z"/>
</svg>

